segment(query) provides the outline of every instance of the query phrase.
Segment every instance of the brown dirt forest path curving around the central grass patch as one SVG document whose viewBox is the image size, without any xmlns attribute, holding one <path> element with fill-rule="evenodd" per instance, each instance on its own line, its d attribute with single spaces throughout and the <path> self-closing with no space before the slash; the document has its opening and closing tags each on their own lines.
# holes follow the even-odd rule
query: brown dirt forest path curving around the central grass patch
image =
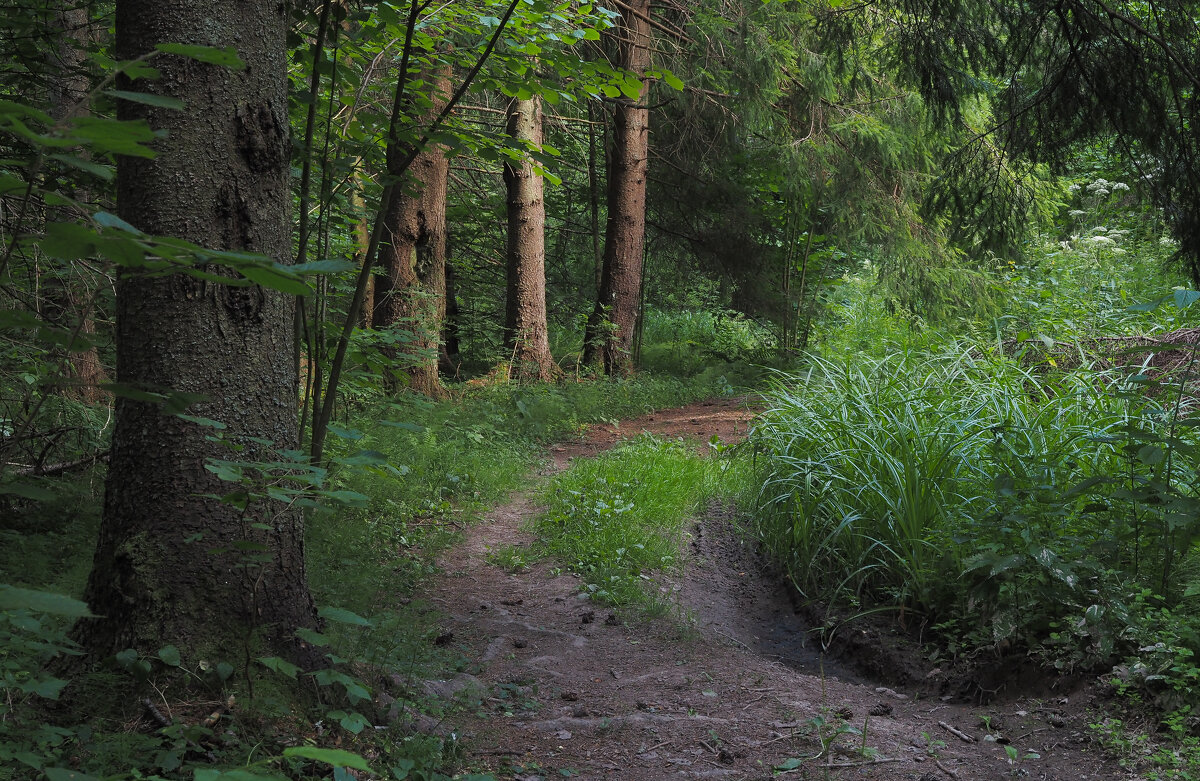
<svg viewBox="0 0 1200 781">
<path fill-rule="evenodd" d="M 642 431 L 734 441 L 752 415 L 720 399 L 595 427 L 552 447 L 542 474 Z M 710 506 L 692 527 L 678 614 L 626 623 L 581 599 L 580 581 L 559 563 L 510 573 L 487 561 L 500 546 L 532 541 L 523 524 L 533 501 L 532 492 L 517 494 L 468 529 L 426 595 L 444 612 L 439 639 L 464 653 L 473 674 L 425 687 L 474 704 L 452 716 L 473 767 L 515 781 L 1127 777 L 1090 750 L 1086 692 L 980 708 L 822 668 L 786 590 L 742 542 L 727 507 Z M 840 631 L 888 642 L 854 624 Z M 982 716 L 1019 756 L 1040 758 L 1010 764 L 985 740 Z"/>
</svg>

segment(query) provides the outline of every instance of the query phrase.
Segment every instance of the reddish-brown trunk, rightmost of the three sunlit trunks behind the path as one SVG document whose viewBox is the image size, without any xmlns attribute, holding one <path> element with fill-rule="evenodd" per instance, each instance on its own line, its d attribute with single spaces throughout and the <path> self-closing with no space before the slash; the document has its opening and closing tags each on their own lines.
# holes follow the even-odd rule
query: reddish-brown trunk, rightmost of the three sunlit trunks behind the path
<svg viewBox="0 0 1200 781">
<path fill-rule="evenodd" d="M 622 4 L 617 28 L 618 65 L 644 73 L 650 65 L 650 0 Z M 584 332 L 583 361 L 608 374 L 634 371 L 634 329 L 641 300 L 646 241 L 646 176 L 649 158 L 647 85 L 636 102 L 622 100 L 613 116 L 608 172 L 608 223 L 596 306 Z"/>
</svg>

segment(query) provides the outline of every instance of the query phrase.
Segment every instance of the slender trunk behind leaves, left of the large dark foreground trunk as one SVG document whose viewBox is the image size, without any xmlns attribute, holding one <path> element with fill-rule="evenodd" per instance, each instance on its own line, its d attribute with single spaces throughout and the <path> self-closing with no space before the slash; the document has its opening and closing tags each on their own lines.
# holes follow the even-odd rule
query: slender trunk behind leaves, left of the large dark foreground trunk
<svg viewBox="0 0 1200 781">
<path fill-rule="evenodd" d="M 91 19 L 86 6 L 79 6 L 71 0 L 55 0 L 50 8 L 53 24 L 56 28 L 56 46 L 49 54 L 50 73 L 50 116 L 61 121 L 71 116 L 83 116 L 89 113 L 88 92 L 91 80 L 85 67 L 88 42 L 91 31 Z M 73 197 L 86 202 L 89 193 L 74 190 Z M 72 216 L 58 208 L 49 216 L 55 220 L 70 221 Z M 47 316 L 62 329 L 76 331 L 85 342 L 94 342 L 96 322 L 94 319 L 95 289 L 79 284 L 82 277 L 55 274 L 47 282 L 47 300 L 43 310 Z M 108 399 L 108 392 L 101 385 L 109 382 L 108 372 L 100 360 L 95 343 L 83 349 L 73 349 L 66 361 L 66 379 L 64 395 L 91 404 Z"/>
</svg>

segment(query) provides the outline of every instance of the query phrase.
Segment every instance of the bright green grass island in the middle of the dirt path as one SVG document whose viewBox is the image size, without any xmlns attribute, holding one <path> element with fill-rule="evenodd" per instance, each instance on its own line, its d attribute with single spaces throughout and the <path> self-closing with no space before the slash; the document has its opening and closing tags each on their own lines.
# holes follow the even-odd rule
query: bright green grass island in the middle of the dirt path
<svg viewBox="0 0 1200 781">
<path fill-rule="evenodd" d="M 642 434 L 554 477 L 535 522 L 540 551 L 571 567 L 594 600 L 661 614 L 664 576 L 678 571 L 688 521 L 732 491 L 737 462 Z"/>
</svg>

